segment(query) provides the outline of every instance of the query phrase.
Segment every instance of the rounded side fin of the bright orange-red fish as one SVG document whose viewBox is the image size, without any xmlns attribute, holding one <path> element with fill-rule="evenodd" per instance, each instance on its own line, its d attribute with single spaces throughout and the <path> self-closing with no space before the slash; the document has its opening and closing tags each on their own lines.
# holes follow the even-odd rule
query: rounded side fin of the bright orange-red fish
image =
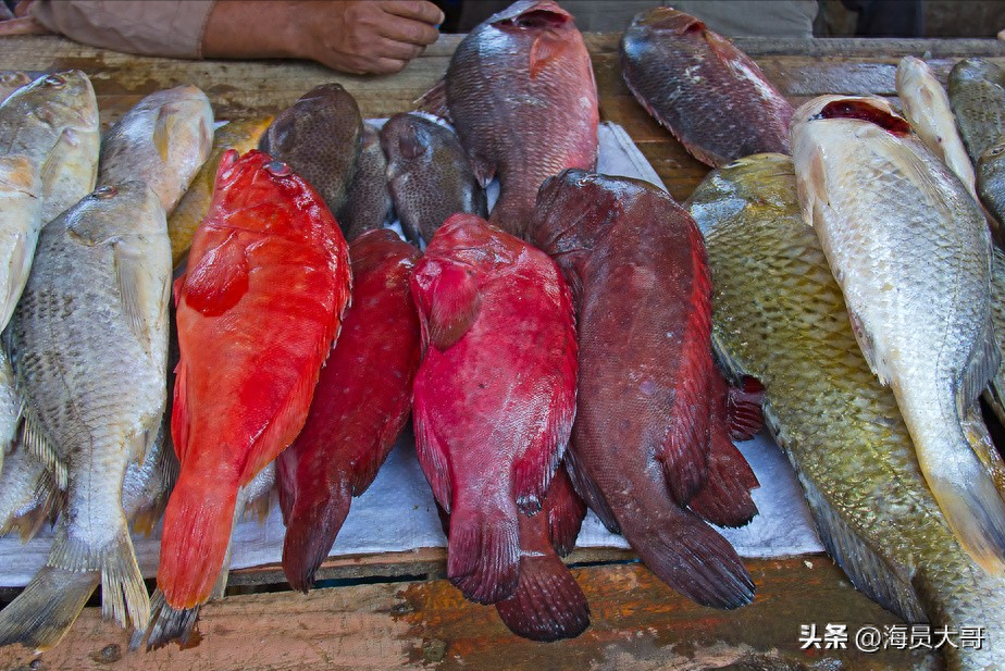
<svg viewBox="0 0 1005 671">
<path fill-rule="evenodd" d="M 248 291 L 248 260 L 237 234 L 209 250 L 185 274 L 182 290 L 186 305 L 207 316 L 219 316 L 236 306 Z"/>
</svg>

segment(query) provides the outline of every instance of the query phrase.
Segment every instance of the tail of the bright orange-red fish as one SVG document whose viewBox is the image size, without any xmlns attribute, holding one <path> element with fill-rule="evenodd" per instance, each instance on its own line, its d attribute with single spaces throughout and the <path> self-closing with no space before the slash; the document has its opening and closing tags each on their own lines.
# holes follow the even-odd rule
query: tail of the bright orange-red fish
<svg viewBox="0 0 1005 671">
<path fill-rule="evenodd" d="M 236 507 L 236 483 L 206 486 L 183 471 L 164 511 L 157 571 L 157 586 L 172 608 L 190 609 L 209 599 L 226 557 Z"/>
</svg>

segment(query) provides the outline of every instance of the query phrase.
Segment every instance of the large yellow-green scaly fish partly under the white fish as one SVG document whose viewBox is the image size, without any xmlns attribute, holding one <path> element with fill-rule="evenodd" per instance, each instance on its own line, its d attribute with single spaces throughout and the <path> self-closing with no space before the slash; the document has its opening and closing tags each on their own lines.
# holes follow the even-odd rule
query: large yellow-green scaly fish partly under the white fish
<svg viewBox="0 0 1005 671">
<path fill-rule="evenodd" d="M 946 525 L 896 399 L 855 340 L 841 288 L 801 215 L 792 160 L 740 159 L 690 202 L 715 278 L 720 359 L 766 387 L 772 436 L 798 474 L 824 545 L 853 584 L 907 622 L 973 626 L 950 671 L 1005 668 L 1005 591 Z"/>
</svg>

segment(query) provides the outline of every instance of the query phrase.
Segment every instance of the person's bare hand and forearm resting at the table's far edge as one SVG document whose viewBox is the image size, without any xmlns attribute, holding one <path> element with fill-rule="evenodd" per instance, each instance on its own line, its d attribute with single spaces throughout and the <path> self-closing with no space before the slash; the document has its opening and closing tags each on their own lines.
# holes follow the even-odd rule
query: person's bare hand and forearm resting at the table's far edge
<svg viewBox="0 0 1005 671">
<path fill-rule="evenodd" d="M 392 74 L 436 41 L 443 20 L 426 0 L 218 0 L 202 55 L 309 59 L 351 74 Z"/>
</svg>

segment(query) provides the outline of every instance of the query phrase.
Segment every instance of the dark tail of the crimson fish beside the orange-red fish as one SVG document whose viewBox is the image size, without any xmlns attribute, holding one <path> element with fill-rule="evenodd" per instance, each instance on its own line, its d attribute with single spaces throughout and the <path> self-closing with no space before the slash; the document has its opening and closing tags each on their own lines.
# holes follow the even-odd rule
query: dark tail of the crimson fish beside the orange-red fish
<svg viewBox="0 0 1005 671">
<path fill-rule="evenodd" d="M 314 572 L 328 556 L 351 500 L 352 493 L 345 482 L 314 496 L 300 494 L 297 498 L 283 542 L 283 572 L 290 587 L 307 594 L 314 584 Z"/>
</svg>

